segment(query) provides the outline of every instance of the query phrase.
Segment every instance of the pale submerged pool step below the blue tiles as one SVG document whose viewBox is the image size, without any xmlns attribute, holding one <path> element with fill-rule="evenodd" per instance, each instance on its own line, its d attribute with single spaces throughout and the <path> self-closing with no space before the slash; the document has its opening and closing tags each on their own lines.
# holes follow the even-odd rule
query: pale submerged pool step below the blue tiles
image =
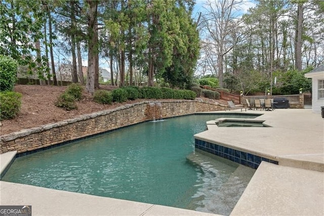
<svg viewBox="0 0 324 216">
<path fill-rule="evenodd" d="M 255 172 L 255 169 L 200 150 L 187 156 L 187 160 L 209 175 L 197 183 L 203 184 L 204 189 L 196 192 L 195 199 L 188 206 L 197 211 L 207 209 L 207 212 L 223 215 L 230 212 Z M 228 169 L 228 165 L 232 169 Z"/>
</svg>

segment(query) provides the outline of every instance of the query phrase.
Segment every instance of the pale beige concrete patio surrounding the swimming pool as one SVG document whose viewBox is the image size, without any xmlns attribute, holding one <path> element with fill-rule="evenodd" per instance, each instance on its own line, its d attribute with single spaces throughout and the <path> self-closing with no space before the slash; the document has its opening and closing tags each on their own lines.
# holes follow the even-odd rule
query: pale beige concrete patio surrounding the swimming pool
<svg viewBox="0 0 324 216">
<path fill-rule="evenodd" d="M 231 111 L 233 112 L 233 111 Z M 273 158 L 262 162 L 231 215 L 324 214 L 324 120 L 311 110 L 248 111 L 271 127 L 221 128 L 200 139 Z M 15 153 L 1 155 L 1 171 Z M 33 215 L 215 215 L 186 209 L 0 182 L 0 205 L 32 205 Z"/>
</svg>

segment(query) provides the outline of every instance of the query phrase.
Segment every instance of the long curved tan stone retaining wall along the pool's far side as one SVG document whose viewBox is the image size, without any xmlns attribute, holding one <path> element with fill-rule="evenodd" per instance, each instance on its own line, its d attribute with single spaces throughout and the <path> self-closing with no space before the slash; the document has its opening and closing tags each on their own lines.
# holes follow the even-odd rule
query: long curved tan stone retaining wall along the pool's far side
<svg viewBox="0 0 324 216">
<path fill-rule="evenodd" d="M 0 136 L 0 154 L 11 151 L 17 151 L 18 154 L 34 151 L 157 118 L 221 110 L 224 110 L 223 105 L 198 100 L 144 101 L 127 104 L 113 110 L 79 116 Z"/>
</svg>

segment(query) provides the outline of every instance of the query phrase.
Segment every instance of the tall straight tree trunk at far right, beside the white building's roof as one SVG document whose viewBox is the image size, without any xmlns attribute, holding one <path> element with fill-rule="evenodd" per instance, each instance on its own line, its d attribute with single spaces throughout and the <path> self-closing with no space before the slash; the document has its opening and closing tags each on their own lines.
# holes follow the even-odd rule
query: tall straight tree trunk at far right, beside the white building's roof
<svg viewBox="0 0 324 216">
<path fill-rule="evenodd" d="M 298 4 L 295 36 L 295 67 L 302 70 L 303 3 Z"/>
</svg>

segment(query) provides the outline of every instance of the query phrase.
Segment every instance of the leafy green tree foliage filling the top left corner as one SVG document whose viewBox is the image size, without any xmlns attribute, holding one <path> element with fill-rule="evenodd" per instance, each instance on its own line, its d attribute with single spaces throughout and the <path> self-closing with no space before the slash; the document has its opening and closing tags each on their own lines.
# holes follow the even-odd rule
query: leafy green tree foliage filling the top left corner
<svg viewBox="0 0 324 216">
<path fill-rule="evenodd" d="M 46 56 L 32 57 L 37 51 L 34 42 L 43 38 L 46 11 L 42 6 L 35 1 L 2 1 L 0 4 L 0 54 L 11 56 L 19 65 L 28 65 L 31 73 L 35 69 L 37 72 L 47 71 L 47 66 L 43 65 Z M 38 75 L 43 76 L 43 73 Z"/>
</svg>

